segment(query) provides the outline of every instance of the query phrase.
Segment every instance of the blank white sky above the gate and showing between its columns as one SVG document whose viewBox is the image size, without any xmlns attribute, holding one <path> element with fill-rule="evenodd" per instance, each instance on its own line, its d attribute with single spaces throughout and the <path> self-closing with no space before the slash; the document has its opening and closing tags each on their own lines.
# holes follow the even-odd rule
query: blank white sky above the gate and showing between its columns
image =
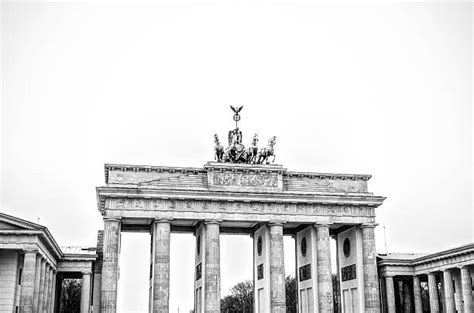
<svg viewBox="0 0 474 313">
<path fill-rule="evenodd" d="M 0 210 L 61 245 L 95 245 L 104 163 L 202 166 L 229 104 L 290 170 L 372 174 L 389 251 L 473 241 L 469 2 L 4 2 L 1 20 Z M 148 240 L 124 235 L 121 312 L 147 307 Z M 172 237 L 172 312 L 192 307 L 193 243 Z M 246 255 L 222 239 L 223 293 Z"/>
</svg>

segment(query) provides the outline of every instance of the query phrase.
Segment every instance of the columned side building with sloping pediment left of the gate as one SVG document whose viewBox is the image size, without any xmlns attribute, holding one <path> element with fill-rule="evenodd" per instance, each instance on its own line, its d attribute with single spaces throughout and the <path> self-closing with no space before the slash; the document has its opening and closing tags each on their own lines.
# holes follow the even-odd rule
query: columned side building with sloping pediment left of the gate
<svg viewBox="0 0 474 313">
<path fill-rule="evenodd" d="M 0 213 L 0 312 L 59 312 L 69 278 L 82 279 L 81 312 L 91 312 L 99 267 L 97 248 L 59 247 L 46 227 Z"/>
</svg>

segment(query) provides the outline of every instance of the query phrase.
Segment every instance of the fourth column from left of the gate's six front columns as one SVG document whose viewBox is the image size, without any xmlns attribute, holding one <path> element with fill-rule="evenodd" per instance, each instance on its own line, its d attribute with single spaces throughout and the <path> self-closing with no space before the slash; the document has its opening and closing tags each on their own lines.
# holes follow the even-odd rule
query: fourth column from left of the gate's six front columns
<svg viewBox="0 0 474 313">
<path fill-rule="evenodd" d="M 283 224 L 270 222 L 270 311 L 286 312 Z"/>
</svg>

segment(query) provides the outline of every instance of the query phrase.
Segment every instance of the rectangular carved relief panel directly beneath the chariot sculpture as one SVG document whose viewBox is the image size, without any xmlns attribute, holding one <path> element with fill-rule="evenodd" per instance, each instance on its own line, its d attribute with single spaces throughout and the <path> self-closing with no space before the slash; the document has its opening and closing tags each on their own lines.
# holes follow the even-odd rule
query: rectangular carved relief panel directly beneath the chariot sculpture
<svg viewBox="0 0 474 313">
<path fill-rule="evenodd" d="M 278 187 L 276 173 L 213 173 L 214 185 L 249 186 L 249 187 Z"/>
</svg>

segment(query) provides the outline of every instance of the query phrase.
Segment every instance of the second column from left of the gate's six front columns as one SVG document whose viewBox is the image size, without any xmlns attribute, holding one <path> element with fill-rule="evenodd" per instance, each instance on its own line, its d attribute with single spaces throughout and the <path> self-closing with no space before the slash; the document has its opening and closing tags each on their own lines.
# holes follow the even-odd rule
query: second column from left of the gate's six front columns
<svg viewBox="0 0 474 313">
<path fill-rule="evenodd" d="M 170 234 L 171 225 L 169 220 L 158 220 L 153 223 L 153 313 L 169 312 Z"/>
</svg>

